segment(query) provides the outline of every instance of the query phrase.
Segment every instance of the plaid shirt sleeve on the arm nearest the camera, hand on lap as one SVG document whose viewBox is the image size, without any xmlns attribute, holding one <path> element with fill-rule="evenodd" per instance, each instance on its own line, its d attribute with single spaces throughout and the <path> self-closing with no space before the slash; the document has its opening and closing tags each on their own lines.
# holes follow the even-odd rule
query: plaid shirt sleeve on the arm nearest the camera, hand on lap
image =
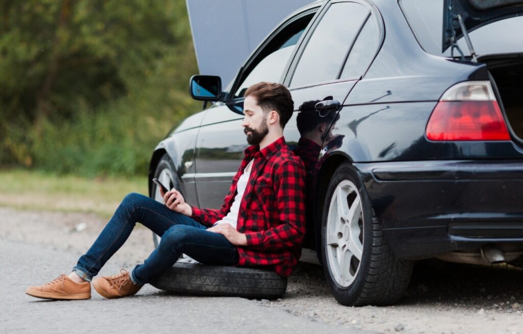
<svg viewBox="0 0 523 334">
<path fill-rule="evenodd" d="M 275 172 L 276 210 L 280 225 L 246 232 L 247 247 L 295 247 L 305 236 L 305 168 L 301 160 L 287 160 Z"/>
</svg>

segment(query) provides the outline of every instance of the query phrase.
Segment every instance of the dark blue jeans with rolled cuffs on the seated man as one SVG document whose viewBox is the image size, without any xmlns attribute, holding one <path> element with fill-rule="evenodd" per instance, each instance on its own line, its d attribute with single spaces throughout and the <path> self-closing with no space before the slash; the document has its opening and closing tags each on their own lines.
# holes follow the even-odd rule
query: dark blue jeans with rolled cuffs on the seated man
<svg viewBox="0 0 523 334">
<path fill-rule="evenodd" d="M 125 243 L 137 222 L 161 236 L 162 240 L 149 258 L 131 271 L 135 283 L 149 283 L 156 275 L 172 267 L 182 253 L 204 264 L 233 266 L 238 262 L 236 246 L 223 235 L 206 231 L 207 226 L 149 197 L 131 193 L 123 199 L 93 246 L 79 258 L 73 271 L 90 282 Z"/>
</svg>

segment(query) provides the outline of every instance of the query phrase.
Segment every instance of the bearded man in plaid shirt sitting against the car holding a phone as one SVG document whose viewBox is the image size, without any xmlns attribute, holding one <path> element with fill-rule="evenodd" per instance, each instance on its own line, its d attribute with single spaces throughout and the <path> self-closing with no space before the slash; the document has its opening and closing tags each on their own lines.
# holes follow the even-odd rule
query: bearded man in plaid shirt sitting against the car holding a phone
<svg viewBox="0 0 523 334">
<path fill-rule="evenodd" d="M 127 240 L 136 222 L 162 237 L 144 263 L 129 273 L 93 281 L 106 298 L 130 296 L 178 260 L 181 254 L 204 264 L 270 266 L 288 276 L 305 234 L 305 169 L 285 144 L 283 128 L 293 101 L 280 84 L 259 83 L 245 92 L 242 126 L 249 146 L 219 210 L 185 202 L 176 189 L 164 203 L 129 194 L 69 275 L 30 286 L 28 295 L 55 299 L 90 298 L 90 281 Z"/>
</svg>

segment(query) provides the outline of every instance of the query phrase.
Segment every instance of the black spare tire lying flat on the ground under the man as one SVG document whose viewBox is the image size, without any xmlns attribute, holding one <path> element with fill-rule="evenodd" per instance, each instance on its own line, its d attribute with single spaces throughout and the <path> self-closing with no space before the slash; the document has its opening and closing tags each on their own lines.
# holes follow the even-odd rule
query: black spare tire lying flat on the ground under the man
<svg viewBox="0 0 523 334">
<path fill-rule="evenodd" d="M 177 262 L 151 285 L 182 294 L 271 299 L 285 294 L 287 278 L 263 269 Z"/>
</svg>

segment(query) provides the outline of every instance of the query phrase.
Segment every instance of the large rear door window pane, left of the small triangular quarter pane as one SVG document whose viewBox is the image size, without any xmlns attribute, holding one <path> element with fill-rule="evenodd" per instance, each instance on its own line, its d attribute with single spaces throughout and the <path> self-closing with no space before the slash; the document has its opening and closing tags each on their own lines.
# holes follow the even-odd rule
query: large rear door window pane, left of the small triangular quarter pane
<svg viewBox="0 0 523 334">
<path fill-rule="evenodd" d="M 290 87 L 338 78 L 347 51 L 370 10 L 358 3 L 335 3 L 327 9 L 298 62 Z"/>
</svg>

